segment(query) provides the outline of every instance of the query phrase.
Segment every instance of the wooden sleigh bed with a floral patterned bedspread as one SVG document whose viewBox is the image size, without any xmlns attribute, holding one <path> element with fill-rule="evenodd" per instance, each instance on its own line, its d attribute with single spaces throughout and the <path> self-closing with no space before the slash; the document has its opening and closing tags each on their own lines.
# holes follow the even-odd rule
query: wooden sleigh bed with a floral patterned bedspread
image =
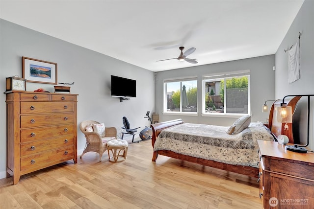
<svg viewBox="0 0 314 209">
<path fill-rule="evenodd" d="M 285 101 L 293 110 L 299 99 L 293 97 Z M 275 119 L 275 108 L 280 103 L 281 100 L 275 101 L 270 109 L 269 129 L 263 123 L 251 122 L 239 133 L 227 134 L 230 126 L 184 123 L 182 119 L 152 124 L 152 161 L 156 162 L 158 155 L 163 155 L 258 177 L 258 139 L 276 140 L 279 134 L 284 134 L 293 143 L 292 124 L 285 129 L 285 124 Z"/>
</svg>

